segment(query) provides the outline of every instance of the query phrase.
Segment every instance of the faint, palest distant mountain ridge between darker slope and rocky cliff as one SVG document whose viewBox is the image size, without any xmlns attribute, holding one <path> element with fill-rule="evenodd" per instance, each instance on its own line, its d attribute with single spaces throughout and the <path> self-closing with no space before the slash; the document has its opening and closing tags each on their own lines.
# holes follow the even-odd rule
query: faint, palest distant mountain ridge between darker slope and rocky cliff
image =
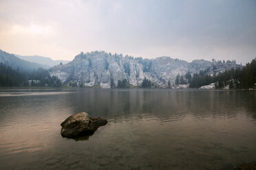
<svg viewBox="0 0 256 170">
<path fill-rule="evenodd" d="M 46 58 L 46 57 L 42 57 L 42 56 L 19 56 L 19 55 L 15 55 L 15 56 L 17 56 L 17 58 L 20 58 L 22 60 L 42 64 L 42 65 L 46 66 L 45 69 L 49 69 L 52 66 L 56 66 L 56 65 L 60 64 L 61 62 L 63 64 L 67 64 L 67 62 L 70 62 L 67 60 L 52 60 L 51 58 Z"/>
</svg>

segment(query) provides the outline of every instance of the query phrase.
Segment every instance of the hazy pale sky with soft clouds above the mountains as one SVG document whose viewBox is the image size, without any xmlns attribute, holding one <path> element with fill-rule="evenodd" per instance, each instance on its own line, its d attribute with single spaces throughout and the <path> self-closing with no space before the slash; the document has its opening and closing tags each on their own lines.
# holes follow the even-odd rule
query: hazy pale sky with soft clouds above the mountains
<svg viewBox="0 0 256 170">
<path fill-rule="evenodd" d="M 98 50 L 245 64 L 256 57 L 256 1 L 0 0 L 0 49 L 54 60 Z"/>
</svg>

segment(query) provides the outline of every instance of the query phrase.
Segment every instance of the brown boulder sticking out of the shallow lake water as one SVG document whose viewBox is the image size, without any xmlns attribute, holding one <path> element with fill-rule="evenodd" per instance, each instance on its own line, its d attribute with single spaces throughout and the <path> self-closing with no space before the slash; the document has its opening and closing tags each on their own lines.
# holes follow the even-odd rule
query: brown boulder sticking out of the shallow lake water
<svg viewBox="0 0 256 170">
<path fill-rule="evenodd" d="M 94 132 L 101 125 L 106 125 L 107 120 L 103 117 L 89 117 L 87 112 L 78 112 L 61 123 L 61 136 L 76 138 Z"/>
</svg>

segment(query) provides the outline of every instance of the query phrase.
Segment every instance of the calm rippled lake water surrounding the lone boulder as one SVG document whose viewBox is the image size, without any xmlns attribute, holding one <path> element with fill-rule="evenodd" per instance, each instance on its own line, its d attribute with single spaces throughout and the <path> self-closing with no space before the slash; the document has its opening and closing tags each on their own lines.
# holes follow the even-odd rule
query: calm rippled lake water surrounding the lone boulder
<svg viewBox="0 0 256 170">
<path fill-rule="evenodd" d="M 85 111 L 108 123 L 61 137 Z M 256 93 L 0 90 L 0 169 L 233 169 L 256 160 Z"/>
</svg>

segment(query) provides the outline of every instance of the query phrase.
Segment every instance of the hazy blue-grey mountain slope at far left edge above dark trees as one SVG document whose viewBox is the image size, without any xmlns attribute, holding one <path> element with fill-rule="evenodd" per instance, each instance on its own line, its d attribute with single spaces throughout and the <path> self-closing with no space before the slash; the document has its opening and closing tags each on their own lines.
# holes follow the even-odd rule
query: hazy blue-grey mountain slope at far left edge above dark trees
<svg viewBox="0 0 256 170">
<path fill-rule="evenodd" d="M 45 65 L 38 64 L 35 62 L 28 62 L 17 58 L 14 54 L 6 53 L 0 49 L 0 63 L 12 67 L 12 69 L 18 69 L 20 71 L 32 71 L 33 69 L 38 69 L 40 67 L 45 68 Z"/>
</svg>

